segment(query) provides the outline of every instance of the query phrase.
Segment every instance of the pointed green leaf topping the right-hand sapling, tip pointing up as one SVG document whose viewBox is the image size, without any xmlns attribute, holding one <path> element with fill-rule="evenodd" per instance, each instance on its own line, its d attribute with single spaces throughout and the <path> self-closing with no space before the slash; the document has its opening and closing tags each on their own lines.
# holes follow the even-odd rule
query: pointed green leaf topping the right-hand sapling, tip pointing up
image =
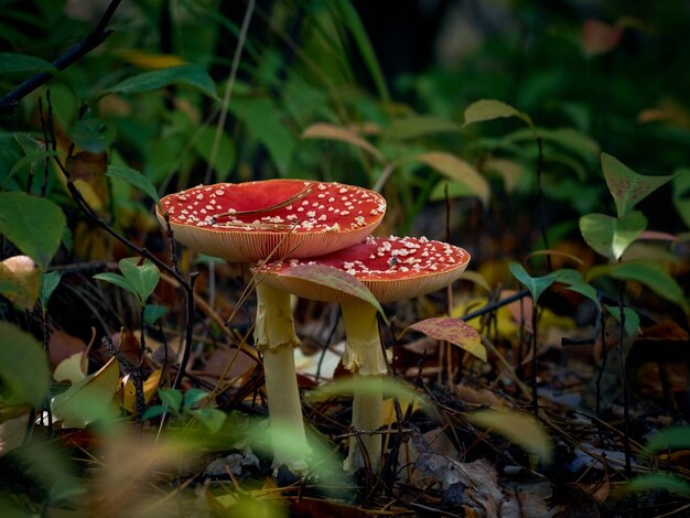
<svg viewBox="0 0 690 518">
<path fill-rule="evenodd" d="M 644 176 L 624 165 L 612 155 L 602 153 L 602 169 L 608 191 L 616 202 L 618 217 L 625 216 L 640 199 L 673 180 L 670 176 Z"/>
</svg>

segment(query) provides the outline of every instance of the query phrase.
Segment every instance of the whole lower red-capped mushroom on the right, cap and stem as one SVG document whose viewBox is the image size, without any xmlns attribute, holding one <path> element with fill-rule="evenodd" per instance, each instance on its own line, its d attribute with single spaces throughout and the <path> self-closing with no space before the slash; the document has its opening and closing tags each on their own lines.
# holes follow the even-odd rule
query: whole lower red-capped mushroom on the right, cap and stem
<svg viewBox="0 0 690 518">
<path fill-rule="evenodd" d="M 259 272 L 265 282 L 298 296 L 341 303 L 345 322 L 346 346 L 343 365 L 354 376 L 381 377 L 388 373 L 381 350 L 376 309 L 368 302 L 325 284 L 309 280 L 300 273 L 302 265 L 322 265 L 337 268 L 366 285 L 379 302 L 395 302 L 423 295 L 451 284 L 467 268 L 470 253 L 462 248 L 427 238 L 367 237 L 364 242 L 324 257 L 265 265 Z M 357 385 L 355 385 L 357 387 Z M 353 428 L 373 432 L 381 425 L 382 395 L 371 390 L 357 391 L 353 400 Z M 369 455 L 371 468 L 377 471 L 381 441 L 377 435 L 360 438 Z M 363 467 L 364 455 L 357 438 L 349 440 L 345 470 Z"/>
</svg>

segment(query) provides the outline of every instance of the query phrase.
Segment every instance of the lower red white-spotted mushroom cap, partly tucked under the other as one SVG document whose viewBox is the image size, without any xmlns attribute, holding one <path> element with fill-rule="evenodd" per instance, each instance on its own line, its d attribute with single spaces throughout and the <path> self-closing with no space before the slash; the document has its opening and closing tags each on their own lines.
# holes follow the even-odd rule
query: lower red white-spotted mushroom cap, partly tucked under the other
<svg viewBox="0 0 690 518">
<path fill-rule="evenodd" d="M 258 272 L 265 282 L 311 300 L 339 301 L 352 295 L 302 277 L 290 276 L 299 265 L 323 265 L 346 271 L 364 283 L 379 302 L 423 295 L 457 280 L 470 253 L 424 237 L 367 237 L 358 245 L 323 257 L 273 262 Z"/>
</svg>

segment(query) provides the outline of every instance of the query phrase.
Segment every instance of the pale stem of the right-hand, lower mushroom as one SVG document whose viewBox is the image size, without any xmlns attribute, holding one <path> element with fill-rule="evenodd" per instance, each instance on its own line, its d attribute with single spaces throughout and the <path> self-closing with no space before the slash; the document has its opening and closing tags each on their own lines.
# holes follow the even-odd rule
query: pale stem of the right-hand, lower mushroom
<svg viewBox="0 0 690 518">
<path fill-rule="evenodd" d="M 343 301 L 341 309 L 347 335 L 343 365 L 355 378 L 363 378 L 363 381 L 366 378 L 366 382 L 355 385 L 352 428 L 369 432 L 349 439 L 349 453 L 343 467 L 354 473 L 366 465 L 364 455 L 368 455 L 371 471 L 376 473 L 380 466 L 381 438 L 370 432 L 381 425 L 381 381 L 382 376 L 388 374 L 388 364 L 381 350 L 376 309 L 359 300 Z"/>
</svg>

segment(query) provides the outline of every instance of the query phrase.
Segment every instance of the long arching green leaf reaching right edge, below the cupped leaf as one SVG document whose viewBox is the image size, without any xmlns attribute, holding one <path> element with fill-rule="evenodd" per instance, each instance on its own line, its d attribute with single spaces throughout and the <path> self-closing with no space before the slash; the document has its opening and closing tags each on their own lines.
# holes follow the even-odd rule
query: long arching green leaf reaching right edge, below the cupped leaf
<svg viewBox="0 0 690 518">
<path fill-rule="evenodd" d="M 687 307 L 688 303 L 683 296 L 683 291 L 661 265 L 647 261 L 629 261 L 617 265 L 601 265 L 592 268 L 587 272 L 587 281 L 592 281 L 601 276 L 611 276 L 614 279 L 637 281 L 659 296 L 675 302 L 681 307 Z"/>
</svg>

